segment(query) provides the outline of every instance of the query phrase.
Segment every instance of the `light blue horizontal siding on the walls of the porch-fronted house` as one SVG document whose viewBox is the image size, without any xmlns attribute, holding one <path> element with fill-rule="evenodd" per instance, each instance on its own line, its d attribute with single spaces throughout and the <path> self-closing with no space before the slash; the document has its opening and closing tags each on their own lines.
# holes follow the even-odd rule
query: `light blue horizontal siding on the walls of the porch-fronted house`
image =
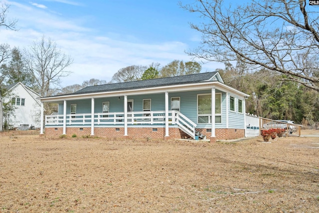
<svg viewBox="0 0 319 213">
<path fill-rule="evenodd" d="M 234 129 L 244 128 L 244 113 L 238 113 L 237 98 L 235 97 L 235 112 L 226 109 L 226 93 L 216 89 L 216 94 L 221 93 L 221 123 L 216 123 L 216 128 L 226 128 L 226 110 L 228 110 L 228 127 Z M 211 90 L 201 91 L 188 91 L 188 92 L 174 92 L 168 93 L 168 109 L 171 109 L 171 98 L 180 97 L 180 112 L 188 117 L 194 123 L 197 123 L 197 95 L 198 94 L 211 94 Z M 128 100 L 134 100 L 134 111 L 143 111 L 143 100 L 151 99 L 151 110 L 165 110 L 165 94 L 149 94 L 128 96 Z M 229 101 L 229 100 L 228 100 Z M 124 97 L 109 97 L 109 98 L 96 98 L 94 100 L 94 112 L 102 113 L 102 103 L 110 102 L 110 112 L 123 112 L 124 111 Z M 71 104 L 76 104 L 76 113 L 91 113 L 91 99 L 67 101 L 67 114 L 70 113 Z M 63 104 L 58 106 L 59 114 L 63 114 Z M 198 124 L 196 128 L 211 128 L 211 124 Z"/>
</svg>

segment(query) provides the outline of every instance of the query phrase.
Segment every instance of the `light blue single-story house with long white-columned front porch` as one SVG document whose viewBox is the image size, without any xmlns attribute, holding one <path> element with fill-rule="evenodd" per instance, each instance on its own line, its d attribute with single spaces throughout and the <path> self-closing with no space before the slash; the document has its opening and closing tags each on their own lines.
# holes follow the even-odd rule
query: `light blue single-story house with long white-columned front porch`
<svg viewBox="0 0 319 213">
<path fill-rule="evenodd" d="M 46 115 L 47 135 L 111 138 L 235 139 L 245 137 L 245 98 L 218 72 L 89 86 L 39 98 L 58 103 Z M 43 118 L 43 116 L 42 116 Z"/>
</svg>

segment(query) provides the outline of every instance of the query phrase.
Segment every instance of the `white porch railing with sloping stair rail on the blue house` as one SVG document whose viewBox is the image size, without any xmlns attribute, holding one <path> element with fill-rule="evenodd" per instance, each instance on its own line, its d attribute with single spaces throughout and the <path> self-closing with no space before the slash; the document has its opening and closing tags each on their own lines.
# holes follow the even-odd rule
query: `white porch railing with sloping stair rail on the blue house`
<svg viewBox="0 0 319 213">
<path fill-rule="evenodd" d="M 63 125 L 63 115 L 46 115 L 45 126 Z M 129 125 L 165 124 L 165 111 L 128 112 Z M 67 114 L 67 125 L 91 125 L 91 113 Z M 196 124 L 178 111 L 168 111 L 168 124 L 195 138 Z M 94 113 L 94 125 L 124 125 L 124 112 Z"/>
</svg>

